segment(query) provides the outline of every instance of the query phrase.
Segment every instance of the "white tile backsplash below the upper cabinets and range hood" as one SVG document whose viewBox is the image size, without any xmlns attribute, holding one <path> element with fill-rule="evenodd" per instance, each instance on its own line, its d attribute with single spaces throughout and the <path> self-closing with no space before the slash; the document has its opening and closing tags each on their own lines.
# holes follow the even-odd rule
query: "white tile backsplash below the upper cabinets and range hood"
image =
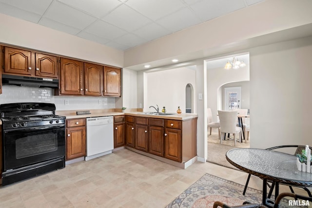
<svg viewBox="0 0 312 208">
<path fill-rule="evenodd" d="M 54 89 L 3 85 L 0 104 L 16 102 L 54 103 L 58 111 L 115 108 L 115 97 L 54 96 Z"/>
</svg>

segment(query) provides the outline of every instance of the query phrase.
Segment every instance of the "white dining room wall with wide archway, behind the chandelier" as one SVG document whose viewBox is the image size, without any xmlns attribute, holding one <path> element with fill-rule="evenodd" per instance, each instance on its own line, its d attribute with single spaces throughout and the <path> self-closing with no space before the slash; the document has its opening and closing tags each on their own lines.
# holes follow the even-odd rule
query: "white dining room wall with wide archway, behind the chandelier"
<svg viewBox="0 0 312 208">
<path fill-rule="evenodd" d="M 207 69 L 207 108 L 212 112 L 222 110 L 222 86 L 231 82 L 248 81 L 249 65 L 237 70 L 227 70 L 222 68 Z M 221 88 L 221 89 L 219 89 Z M 213 113 L 213 120 L 217 121 L 216 113 Z"/>
</svg>

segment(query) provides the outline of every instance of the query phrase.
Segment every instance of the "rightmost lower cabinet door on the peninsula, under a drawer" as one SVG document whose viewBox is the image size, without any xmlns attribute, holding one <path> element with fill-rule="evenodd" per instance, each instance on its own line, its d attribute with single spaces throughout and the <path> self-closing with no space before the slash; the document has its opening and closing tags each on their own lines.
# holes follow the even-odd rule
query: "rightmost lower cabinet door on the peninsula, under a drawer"
<svg viewBox="0 0 312 208">
<path fill-rule="evenodd" d="M 181 130 L 166 129 L 165 131 L 165 158 L 182 162 L 181 156 Z"/>
</svg>

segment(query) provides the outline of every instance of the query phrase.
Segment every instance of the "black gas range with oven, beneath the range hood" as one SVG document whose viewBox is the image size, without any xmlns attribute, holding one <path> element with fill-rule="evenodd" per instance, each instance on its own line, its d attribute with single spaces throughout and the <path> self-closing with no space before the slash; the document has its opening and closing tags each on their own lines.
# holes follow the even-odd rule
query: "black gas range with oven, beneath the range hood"
<svg viewBox="0 0 312 208">
<path fill-rule="evenodd" d="M 0 105 L 2 185 L 65 167 L 65 117 L 52 103 Z"/>
</svg>

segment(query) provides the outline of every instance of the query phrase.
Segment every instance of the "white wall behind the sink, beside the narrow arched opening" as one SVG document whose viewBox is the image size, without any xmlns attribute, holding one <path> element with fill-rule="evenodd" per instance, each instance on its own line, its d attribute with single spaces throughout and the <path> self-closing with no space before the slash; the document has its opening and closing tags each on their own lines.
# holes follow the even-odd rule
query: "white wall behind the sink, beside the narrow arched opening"
<svg viewBox="0 0 312 208">
<path fill-rule="evenodd" d="M 176 113 L 178 106 L 185 113 L 185 87 L 190 83 L 196 86 L 196 71 L 186 67 L 146 73 L 146 103 L 144 111 L 155 111 L 149 106 L 166 107 L 168 113 Z"/>
</svg>

